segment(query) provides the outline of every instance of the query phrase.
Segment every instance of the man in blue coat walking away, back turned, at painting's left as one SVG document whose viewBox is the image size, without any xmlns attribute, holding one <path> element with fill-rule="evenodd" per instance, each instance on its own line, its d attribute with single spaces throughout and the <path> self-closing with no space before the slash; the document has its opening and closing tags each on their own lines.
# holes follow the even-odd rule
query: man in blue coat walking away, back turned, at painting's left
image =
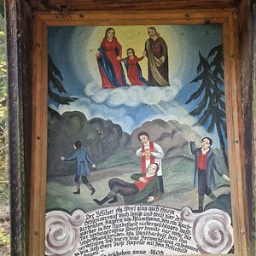
<svg viewBox="0 0 256 256">
<path fill-rule="evenodd" d="M 96 189 L 93 188 L 91 183 L 88 181 L 87 176 L 90 175 L 90 168 L 88 165 L 92 166 L 92 168 L 96 168 L 96 165 L 90 160 L 90 157 L 87 153 L 87 151 L 82 147 L 81 141 L 75 141 L 73 143 L 73 148 L 75 151 L 73 154 L 64 157 L 61 156 L 61 160 L 65 161 L 76 161 L 76 175 L 74 177 L 74 181 L 76 183 L 77 191 L 73 192 L 75 195 L 80 194 L 80 183 L 79 178 L 82 177 L 82 182 L 90 189 L 91 193 L 90 195 L 93 195 L 96 191 Z"/>
</svg>

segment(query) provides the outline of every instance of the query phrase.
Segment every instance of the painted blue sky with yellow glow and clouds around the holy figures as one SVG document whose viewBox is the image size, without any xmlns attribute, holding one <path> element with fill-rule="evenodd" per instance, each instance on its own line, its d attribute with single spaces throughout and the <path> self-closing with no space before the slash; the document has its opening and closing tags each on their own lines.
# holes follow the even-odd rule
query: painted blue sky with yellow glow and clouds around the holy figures
<svg viewBox="0 0 256 256">
<path fill-rule="evenodd" d="M 129 47 L 135 49 L 137 56 L 143 54 L 148 39 L 148 26 L 113 26 L 123 47 L 123 57 Z M 96 50 L 102 43 L 107 26 L 49 27 L 49 55 L 61 71 L 67 96 L 79 97 L 70 105 L 60 106 L 49 99 L 49 106 L 59 113 L 79 110 L 87 119 L 111 119 L 128 133 L 146 120 L 158 118 L 176 119 L 179 123 L 191 126 L 195 124 L 196 119 L 188 113 L 195 108 L 196 102 L 189 105 L 185 102 L 199 84 L 190 84 L 190 81 L 197 76 L 199 51 L 207 57 L 212 47 L 222 44 L 221 26 L 155 27 L 168 47 L 171 86 L 131 86 L 113 90 L 102 89 L 96 63 Z M 147 58 L 140 61 L 140 65 L 147 79 Z M 203 127 L 196 129 L 202 135 L 207 135 Z M 215 133 L 212 137 L 216 137 Z"/>
</svg>

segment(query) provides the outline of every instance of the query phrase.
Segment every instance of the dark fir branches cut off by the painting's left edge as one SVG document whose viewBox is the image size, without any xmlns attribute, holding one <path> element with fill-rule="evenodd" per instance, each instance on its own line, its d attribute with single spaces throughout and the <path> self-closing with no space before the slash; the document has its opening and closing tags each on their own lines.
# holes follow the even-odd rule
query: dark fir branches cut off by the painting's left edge
<svg viewBox="0 0 256 256">
<path fill-rule="evenodd" d="M 61 94 L 67 94 L 61 81 L 63 80 L 61 71 L 55 66 L 50 55 L 48 55 L 48 94 L 49 97 L 56 103 L 61 105 L 69 105 L 70 102 L 74 102 L 78 98 L 63 96 Z M 54 90 L 57 90 L 56 93 Z"/>
</svg>

